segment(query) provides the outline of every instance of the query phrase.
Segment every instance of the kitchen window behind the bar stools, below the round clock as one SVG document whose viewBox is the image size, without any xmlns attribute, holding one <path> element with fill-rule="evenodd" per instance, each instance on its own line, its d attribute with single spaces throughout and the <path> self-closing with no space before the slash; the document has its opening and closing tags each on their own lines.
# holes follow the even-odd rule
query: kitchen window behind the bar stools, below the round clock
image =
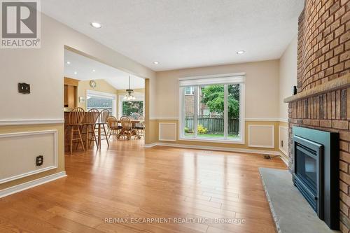
<svg viewBox="0 0 350 233">
<path fill-rule="evenodd" d="M 106 92 L 87 90 L 86 110 L 97 108 L 99 111 L 107 109 L 111 115 L 116 116 L 116 95 Z"/>
</svg>

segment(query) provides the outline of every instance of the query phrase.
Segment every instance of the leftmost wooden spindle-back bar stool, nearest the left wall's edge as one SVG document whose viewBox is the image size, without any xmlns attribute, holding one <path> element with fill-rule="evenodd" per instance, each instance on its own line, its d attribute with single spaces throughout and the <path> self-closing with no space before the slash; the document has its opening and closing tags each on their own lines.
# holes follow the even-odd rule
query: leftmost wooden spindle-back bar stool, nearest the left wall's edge
<svg viewBox="0 0 350 233">
<path fill-rule="evenodd" d="M 73 153 L 73 141 L 78 141 L 77 142 L 78 145 L 79 145 L 79 143 L 81 143 L 81 146 L 83 147 L 83 150 L 85 151 L 83 139 L 81 137 L 81 132 L 80 132 L 80 127 L 83 126 L 84 115 L 85 115 L 85 111 L 83 108 L 73 108 L 71 110 L 71 112 L 69 113 L 66 132 L 68 131 L 68 129 L 70 127 L 71 128 L 71 141 L 70 141 L 71 154 Z M 74 132 L 78 132 L 79 137 L 74 138 L 73 136 L 76 135 L 76 134 L 74 134 Z M 78 148 L 78 145 L 77 145 L 77 148 Z"/>
</svg>

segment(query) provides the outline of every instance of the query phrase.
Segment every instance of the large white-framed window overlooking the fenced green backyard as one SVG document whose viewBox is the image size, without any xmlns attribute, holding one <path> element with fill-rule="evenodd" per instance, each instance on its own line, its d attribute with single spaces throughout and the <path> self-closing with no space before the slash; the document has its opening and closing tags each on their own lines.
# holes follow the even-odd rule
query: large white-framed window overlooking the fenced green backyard
<svg viewBox="0 0 350 233">
<path fill-rule="evenodd" d="M 243 142 L 244 76 L 189 78 L 179 83 L 180 139 Z"/>
</svg>

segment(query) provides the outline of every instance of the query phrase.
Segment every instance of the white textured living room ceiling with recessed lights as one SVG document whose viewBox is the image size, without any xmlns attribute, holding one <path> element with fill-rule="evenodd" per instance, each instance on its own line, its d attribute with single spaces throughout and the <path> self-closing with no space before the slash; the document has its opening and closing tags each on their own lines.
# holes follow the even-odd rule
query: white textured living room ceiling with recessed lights
<svg viewBox="0 0 350 233">
<path fill-rule="evenodd" d="M 297 34 L 303 5 L 304 0 L 41 1 L 43 13 L 154 71 L 278 59 Z M 92 28 L 92 21 L 102 28 Z M 246 52 L 237 55 L 239 50 Z"/>
</svg>

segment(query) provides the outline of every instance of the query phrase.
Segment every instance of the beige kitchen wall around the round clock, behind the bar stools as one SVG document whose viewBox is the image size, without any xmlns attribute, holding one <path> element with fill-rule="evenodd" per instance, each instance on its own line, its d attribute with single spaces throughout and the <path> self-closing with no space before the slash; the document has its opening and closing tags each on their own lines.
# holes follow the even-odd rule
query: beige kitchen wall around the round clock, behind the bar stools
<svg viewBox="0 0 350 233">
<path fill-rule="evenodd" d="M 87 102 L 87 99 L 86 99 L 87 90 L 93 90 L 96 92 L 106 92 L 109 94 L 117 94 L 116 88 L 114 88 L 112 85 L 107 83 L 105 80 L 97 79 L 94 81 L 96 82 L 96 87 L 94 88 L 90 87 L 90 80 L 80 81 L 78 85 L 78 107 L 84 108 L 85 111 L 86 111 L 86 102 Z M 79 103 L 79 97 L 85 97 L 85 103 Z"/>
</svg>

